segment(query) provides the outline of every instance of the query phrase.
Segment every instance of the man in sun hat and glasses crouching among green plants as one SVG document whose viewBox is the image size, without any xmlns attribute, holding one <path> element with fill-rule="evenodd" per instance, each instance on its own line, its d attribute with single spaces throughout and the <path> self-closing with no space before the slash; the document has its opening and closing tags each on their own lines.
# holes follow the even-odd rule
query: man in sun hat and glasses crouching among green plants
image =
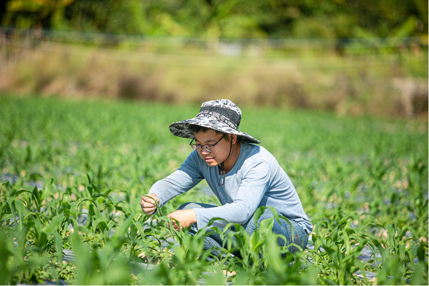
<svg viewBox="0 0 429 286">
<path fill-rule="evenodd" d="M 262 220 L 274 216 L 267 208 L 255 226 L 256 209 L 272 206 L 293 227 L 292 231 L 285 220 L 281 219 L 281 224 L 274 220 L 273 231 L 283 234 L 287 244 L 293 241 L 304 248 L 313 226 L 292 182 L 270 152 L 254 145 L 260 143 L 258 140 L 239 131 L 240 121 L 240 109 L 231 101 L 221 99 L 203 103 L 195 118 L 170 124 L 173 135 L 192 139 L 190 145 L 195 151 L 176 172 L 153 184 L 149 196 L 161 207 L 206 179 L 222 206 L 183 204 L 167 216 L 172 219 L 172 227 L 192 226 L 190 233 L 195 234 L 196 230 L 207 227 L 212 218 L 222 218 L 228 223 L 242 225 L 252 234 Z M 140 204 L 145 214 L 153 214 L 156 210 L 151 198 L 142 196 Z M 223 221 L 214 223 L 219 228 L 225 225 Z M 215 234 L 205 236 L 205 249 L 220 248 L 222 241 L 219 239 Z M 279 238 L 278 241 L 285 245 L 284 240 Z"/>
</svg>

